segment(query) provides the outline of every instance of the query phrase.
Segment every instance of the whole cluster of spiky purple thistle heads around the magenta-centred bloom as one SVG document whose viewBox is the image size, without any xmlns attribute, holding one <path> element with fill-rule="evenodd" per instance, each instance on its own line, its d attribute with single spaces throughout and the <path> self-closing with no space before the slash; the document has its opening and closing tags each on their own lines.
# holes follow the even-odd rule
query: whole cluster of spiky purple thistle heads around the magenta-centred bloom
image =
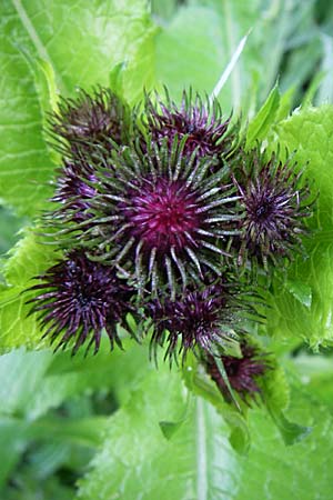
<svg viewBox="0 0 333 500">
<path fill-rule="evenodd" d="M 192 91 L 134 109 L 110 89 L 80 91 L 50 123 L 63 164 L 46 226 L 63 257 L 33 287 L 44 336 L 97 352 L 102 331 L 121 346 L 130 312 L 151 352 L 193 351 L 225 393 L 219 359 L 235 391 L 258 392 L 268 362 L 246 333 L 251 284 L 302 248 L 302 172 L 245 151 L 240 123 Z"/>
</svg>

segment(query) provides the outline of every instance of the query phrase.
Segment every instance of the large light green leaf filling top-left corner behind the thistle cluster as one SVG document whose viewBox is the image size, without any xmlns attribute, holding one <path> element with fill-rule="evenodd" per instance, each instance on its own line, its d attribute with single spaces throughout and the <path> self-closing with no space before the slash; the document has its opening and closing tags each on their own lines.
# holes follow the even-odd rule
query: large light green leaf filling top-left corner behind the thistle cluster
<svg viewBox="0 0 333 500">
<path fill-rule="evenodd" d="M 73 94 L 78 86 L 108 84 L 124 61 L 124 91 L 137 99 L 153 79 L 153 29 L 145 0 L 3 0 L 0 28 L 0 197 L 33 214 L 51 194 L 42 126 L 56 86 Z"/>
</svg>

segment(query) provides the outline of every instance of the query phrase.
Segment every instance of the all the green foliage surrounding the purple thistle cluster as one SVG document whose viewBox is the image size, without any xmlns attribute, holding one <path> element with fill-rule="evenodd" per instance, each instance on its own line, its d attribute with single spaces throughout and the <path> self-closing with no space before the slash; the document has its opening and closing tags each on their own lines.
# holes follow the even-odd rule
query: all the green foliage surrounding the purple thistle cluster
<svg viewBox="0 0 333 500">
<path fill-rule="evenodd" d="M 0 497 L 332 498 L 333 8 L 2 0 L 0 14 Z M 132 104 L 163 83 L 175 100 L 189 86 L 210 94 L 246 33 L 222 108 L 242 111 L 248 147 L 296 150 L 320 198 L 310 259 L 268 291 L 261 341 L 280 368 L 266 406 L 240 414 L 195 363 L 157 371 L 145 346 L 53 354 L 21 292 L 54 260 L 31 228 L 59 164 L 44 134 L 59 92 L 110 83 Z"/>
</svg>

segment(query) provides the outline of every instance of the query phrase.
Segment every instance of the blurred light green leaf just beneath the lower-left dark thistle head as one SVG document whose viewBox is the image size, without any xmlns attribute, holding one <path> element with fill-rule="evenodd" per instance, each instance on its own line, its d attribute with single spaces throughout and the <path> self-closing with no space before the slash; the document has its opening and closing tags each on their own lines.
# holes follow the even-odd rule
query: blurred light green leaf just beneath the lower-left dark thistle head
<svg viewBox="0 0 333 500">
<path fill-rule="evenodd" d="M 84 357 L 80 352 L 75 358 L 70 352 L 54 356 L 38 391 L 26 406 L 28 418 L 39 418 L 63 401 L 93 390 L 112 389 L 119 404 L 127 402 L 130 391 L 144 377 L 148 352 L 131 339 L 123 341 L 123 348 L 124 351 L 110 352 L 109 341 L 103 338 L 95 356 Z"/>
</svg>

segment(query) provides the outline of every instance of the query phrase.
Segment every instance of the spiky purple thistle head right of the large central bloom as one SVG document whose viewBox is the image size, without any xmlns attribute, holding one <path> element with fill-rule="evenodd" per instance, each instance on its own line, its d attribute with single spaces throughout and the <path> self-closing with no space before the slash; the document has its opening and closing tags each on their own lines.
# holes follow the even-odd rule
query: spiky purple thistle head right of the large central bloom
<svg viewBox="0 0 333 500">
<path fill-rule="evenodd" d="M 306 233 L 304 218 L 312 214 L 313 200 L 302 182 L 302 171 L 287 160 L 284 164 L 273 154 L 269 162 L 263 154 L 248 156 L 240 179 L 234 178 L 243 218 L 239 221 L 239 263 L 246 258 L 264 268 L 281 258 L 293 259 L 303 248 L 301 236 Z"/>
</svg>

